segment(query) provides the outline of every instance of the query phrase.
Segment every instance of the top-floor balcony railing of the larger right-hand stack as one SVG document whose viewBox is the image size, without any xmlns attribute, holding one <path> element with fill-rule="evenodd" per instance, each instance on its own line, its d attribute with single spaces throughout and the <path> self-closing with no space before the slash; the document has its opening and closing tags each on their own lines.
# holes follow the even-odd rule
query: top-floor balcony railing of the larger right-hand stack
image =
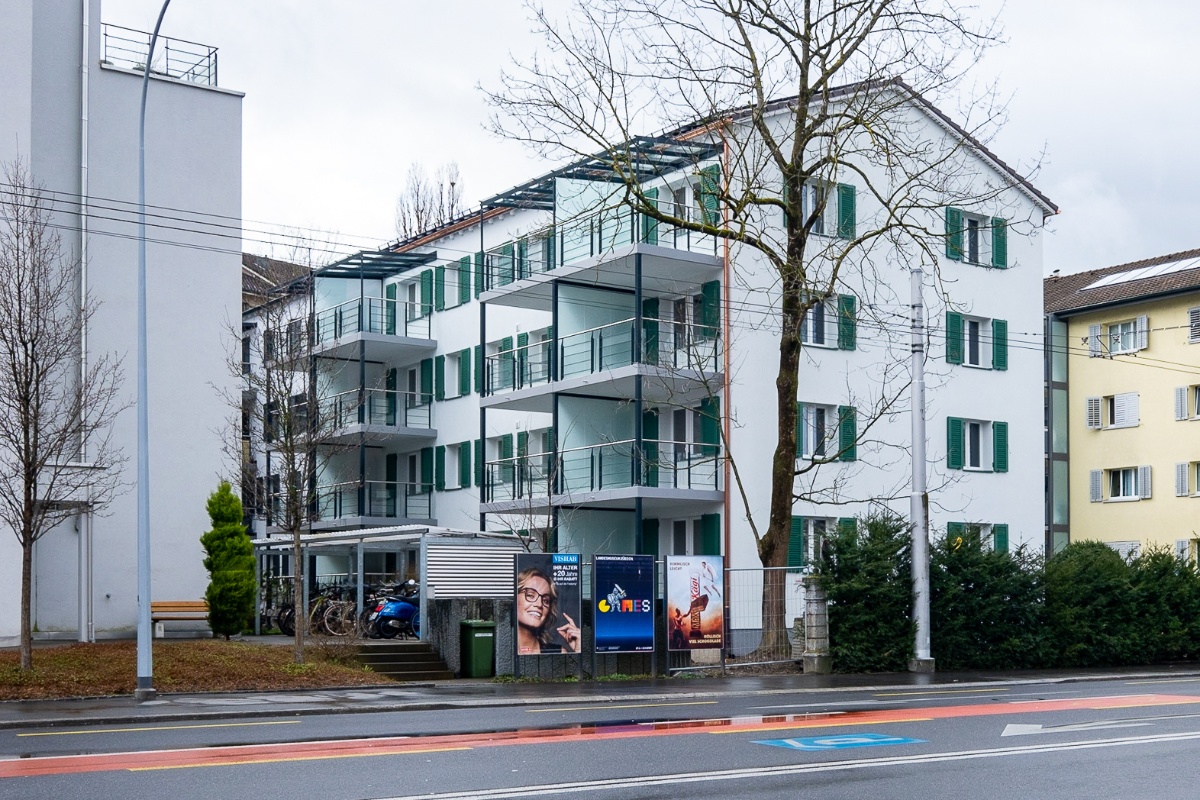
<svg viewBox="0 0 1200 800">
<path fill-rule="evenodd" d="M 690 222 L 703 213 L 692 206 L 662 204 L 671 216 Z M 634 243 L 716 255 L 718 240 L 688 228 L 656 222 L 630 207 L 602 209 L 545 228 L 485 253 L 485 285 L 498 289 L 538 272 L 582 261 Z"/>
</svg>

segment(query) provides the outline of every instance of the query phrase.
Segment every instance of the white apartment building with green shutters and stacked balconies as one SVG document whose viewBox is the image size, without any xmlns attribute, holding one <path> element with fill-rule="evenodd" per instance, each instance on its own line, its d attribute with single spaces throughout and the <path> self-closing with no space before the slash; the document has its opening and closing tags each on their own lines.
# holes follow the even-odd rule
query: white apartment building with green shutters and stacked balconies
<svg viewBox="0 0 1200 800">
<path fill-rule="evenodd" d="M 905 109 L 912 130 L 960 146 L 974 180 L 998 187 L 926 198 L 922 218 L 937 242 L 924 281 L 931 530 L 982 525 L 998 548 L 1040 547 L 1033 337 L 1039 233 L 1056 207 L 920 98 Z M 642 187 L 660 207 L 721 213 L 715 186 L 736 178 L 716 143 L 628 148 L 653 164 Z M 858 168 L 887 185 L 877 167 Z M 766 525 L 778 277 L 749 248 L 614 201 L 607 169 L 570 164 L 355 257 L 378 269 L 355 272 L 349 259 L 314 273 L 317 291 L 298 306 L 311 303 L 316 355 L 356 360 L 338 391 L 366 397 L 347 428 L 358 449 L 337 453 L 346 463 L 330 470 L 314 530 L 432 519 L 540 535 L 584 559 L 724 553 L 730 566 L 758 565 L 748 511 Z M 828 198 L 822 247 L 886 213 L 856 174 L 809 187 Z M 840 457 L 797 481 L 790 565 L 839 519 L 880 505 L 907 517 L 911 263 L 881 242 L 805 321 L 797 465 Z M 335 485 L 354 495 L 341 511 L 324 500 L 344 494 Z"/>
</svg>

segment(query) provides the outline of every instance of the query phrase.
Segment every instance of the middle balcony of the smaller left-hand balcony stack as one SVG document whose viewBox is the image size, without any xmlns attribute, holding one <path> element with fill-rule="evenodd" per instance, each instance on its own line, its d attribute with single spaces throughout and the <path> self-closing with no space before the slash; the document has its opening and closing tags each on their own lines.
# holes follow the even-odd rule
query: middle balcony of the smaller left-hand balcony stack
<svg viewBox="0 0 1200 800">
<path fill-rule="evenodd" d="M 320 399 L 325 440 L 344 443 L 360 434 L 380 440 L 390 437 L 433 439 L 433 396 L 386 389 L 349 390 Z"/>
</svg>

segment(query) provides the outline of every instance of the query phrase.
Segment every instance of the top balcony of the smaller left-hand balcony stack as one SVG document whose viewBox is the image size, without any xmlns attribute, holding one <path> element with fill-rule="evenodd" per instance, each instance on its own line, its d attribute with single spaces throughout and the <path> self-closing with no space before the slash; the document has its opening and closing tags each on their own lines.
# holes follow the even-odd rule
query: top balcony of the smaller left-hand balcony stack
<svg viewBox="0 0 1200 800">
<path fill-rule="evenodd" d="M 368 361 L 396 363 L 403 350 L 420 359 L 437 343 L 430 338 L 430 314 L 421 303 L 383 297 L 348 300 L 317 312 L 313 349 L 319 355 L 355 359 L 361 343 Z"/>
</svg>

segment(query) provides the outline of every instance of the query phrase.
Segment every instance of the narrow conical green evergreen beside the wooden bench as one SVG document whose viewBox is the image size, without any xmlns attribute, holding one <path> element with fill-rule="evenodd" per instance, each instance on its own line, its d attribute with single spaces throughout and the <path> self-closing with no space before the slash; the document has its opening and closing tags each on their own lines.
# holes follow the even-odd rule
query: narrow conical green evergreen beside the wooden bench
<svg viewBox="0 0 1200 800">
<path fill-rule="evenodd" d="M 254 549 L 241 524 L 241 501 L 227 481 L 209 495 L 212 530 L 200 536 L 204 569 L 209 571 L 209 627 L 227 639 L 239 633 L 254 613 Z"/>
</svg>

